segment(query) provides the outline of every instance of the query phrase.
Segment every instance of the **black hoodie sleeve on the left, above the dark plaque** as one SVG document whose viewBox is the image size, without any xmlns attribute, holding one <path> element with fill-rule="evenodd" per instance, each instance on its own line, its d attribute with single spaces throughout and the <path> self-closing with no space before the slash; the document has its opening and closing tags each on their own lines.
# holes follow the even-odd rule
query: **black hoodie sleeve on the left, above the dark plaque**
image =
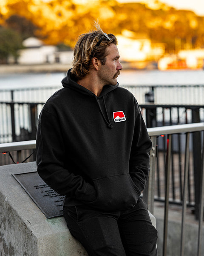
<svg viewBox="0 0 204 256">
<path fill-rule="evenodd" d="M 60 195 L 79 201 L 94 201 L 96 190 L 82 176 L 65 169 L 65 147 L 57 116 L 43 109 L 40 113 L 36 138 L 37 172 Z"/>
</svg>

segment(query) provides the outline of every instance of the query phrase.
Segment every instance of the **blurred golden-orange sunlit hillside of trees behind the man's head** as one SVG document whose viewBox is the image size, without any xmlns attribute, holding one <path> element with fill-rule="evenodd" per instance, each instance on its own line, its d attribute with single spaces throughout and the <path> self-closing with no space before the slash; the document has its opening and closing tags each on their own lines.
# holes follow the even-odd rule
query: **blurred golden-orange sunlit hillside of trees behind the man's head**
<svg viewBox="0 0 204 256">
<path fill-rule="evenodd" d="M 204 17 L 177 10 L 167 0 L 129 2 L 0 0 L 0 24 L 16 29 L 23 39 L 30 35 L 44 44 L 74 47 L 78 36 L 94 29 L 98 20 L 104 32 L 117 36 L 123 61 L 157 61 L 161 70 L 202 67 Z"/>
</svg>

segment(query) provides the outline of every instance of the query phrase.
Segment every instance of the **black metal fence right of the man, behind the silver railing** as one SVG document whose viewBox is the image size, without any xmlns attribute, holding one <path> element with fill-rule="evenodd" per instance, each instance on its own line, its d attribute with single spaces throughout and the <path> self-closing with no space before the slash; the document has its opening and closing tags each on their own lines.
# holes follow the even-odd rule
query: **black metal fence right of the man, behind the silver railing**
<svg viewBox="0 0 204 256">
<path fill-rule="evenodd" d="M 147 128 L 167 125 L 180 125 L 204 122 L 204 105 L 140 105 Z M 190 158 L 188 172 L 188 206 L 192 207 L 198 219 L 198 198 L 200 196 L 201 177 L 201 143 L 203 132 L 190 135 Z M 170 166 L 170 203 L 182 204 L 184 157 L 186 134 L 173 134 L 171 145 Z M 165 198 L 165 160 L 167 137 L 157 137 L 157 162 L 155 180 L 155 200 L 164 201 Z"/>
</svg>

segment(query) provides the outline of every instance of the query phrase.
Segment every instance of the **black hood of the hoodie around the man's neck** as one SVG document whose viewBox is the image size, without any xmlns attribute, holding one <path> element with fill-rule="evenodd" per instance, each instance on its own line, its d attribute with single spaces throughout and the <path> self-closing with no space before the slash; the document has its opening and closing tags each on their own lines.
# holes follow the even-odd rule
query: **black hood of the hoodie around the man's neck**
<svg viewBox="0 0 204 256">
<path fill-rule="evenodd" d="M 86 89 L 85 87 L 83 87 L 80 84 L 77 84 L 77 82 L 72 79 L 71 69 L 68 70 L 67 75 L 62 79 L 62 86 L 68 87 L 72 90 L 78 91 L 79 93 L 93 97 L 93 93 L 90 90 Z M 116 85 L 105 85 L 103 87 L 101 94 L 97 98 L 98 99 L 102 98 L 107 93 L 111 92 L 112 90 L 115 90 L 118 86 L 119 86 L 119 83 L 117 83 Z"/>
</svg>

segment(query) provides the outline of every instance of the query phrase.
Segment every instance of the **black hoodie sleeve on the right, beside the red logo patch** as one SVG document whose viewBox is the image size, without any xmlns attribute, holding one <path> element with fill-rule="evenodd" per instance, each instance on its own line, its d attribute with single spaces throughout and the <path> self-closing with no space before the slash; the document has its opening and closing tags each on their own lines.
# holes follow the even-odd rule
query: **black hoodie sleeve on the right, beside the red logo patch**
<svg viewBox="0 0 204 256">
<path fill-rule="evenodd" d="M 136 119 L 129 166 L 130 176 L 136 185 L 138 195 L 140 195 L 147 182 L 150 171 L 149 152 L 152 148 L 152 142 L 136 100 L 135 106 Z"/>
</svg>

